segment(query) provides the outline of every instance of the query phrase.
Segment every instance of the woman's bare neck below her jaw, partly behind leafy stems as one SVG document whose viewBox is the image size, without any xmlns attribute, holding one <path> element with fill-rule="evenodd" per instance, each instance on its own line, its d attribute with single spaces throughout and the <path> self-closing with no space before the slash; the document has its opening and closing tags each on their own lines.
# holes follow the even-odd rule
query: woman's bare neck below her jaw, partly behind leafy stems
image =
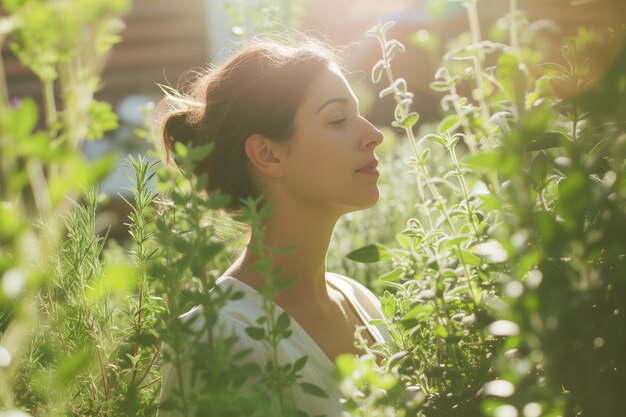
<svg viewBox="0 0 626 417">
<path fill-rule="evenodd" d="M 321 214 L 321 210 L 281 210 L 275 206 L 265 220 L 263 244 L 280 249 L 295 248 L 288 253 L 275 254 L 273 270 L 282 271 L 274 280 L 298 277 L 298 281 L 276 298 L 279 305 L 319 302 L 328 298 L 326 287 L 326 254 L 339 215 Z M 252 265 L 258 256 L 250 250 L 252 236 L 239 259 L 225 273 L 253 286 L 264 285 L 263 278 Z"/>
</svg>

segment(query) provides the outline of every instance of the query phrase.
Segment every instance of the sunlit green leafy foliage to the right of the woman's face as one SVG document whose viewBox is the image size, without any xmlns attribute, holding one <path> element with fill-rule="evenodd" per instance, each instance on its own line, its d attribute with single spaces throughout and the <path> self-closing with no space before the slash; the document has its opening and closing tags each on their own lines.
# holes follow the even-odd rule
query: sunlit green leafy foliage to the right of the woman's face
<svg viewBox="0 0 626 417">
<path fill-rule="evenodd" d="M 470 36 L 431 83 L 447 115 L 419 139 L 391 71 L 405 47 L 390 23 L 368 32 L 420 199 L 394 247 L 356 253 L 393 259 L 381 302 L 398 350 L 374 348 L 384 376 L 346 359 L 345 393 L 368 399 L 356 415 L 612 415 L 626 378 L 625 28 L 581 28 L 545 63 L 516 1 L 502 42 L 482 40 L 477 1 L 462 3 Z M 595 49 L 617 56 L 600 80 Z"/>
</svg>

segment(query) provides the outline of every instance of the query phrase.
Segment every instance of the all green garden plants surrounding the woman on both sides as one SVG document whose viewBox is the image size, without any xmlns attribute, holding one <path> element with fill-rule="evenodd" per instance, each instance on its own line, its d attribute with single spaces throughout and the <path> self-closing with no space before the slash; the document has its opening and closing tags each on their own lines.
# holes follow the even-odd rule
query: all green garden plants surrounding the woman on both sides
<svg viewBox="0 0 626 417">
<path fill-rule="evenodd" d="M 346 415 L 617 416 L 626 387 L 626 26 L 581 26 L 555 44 L 551 26 L 529 21 L 517 0 L 485 27 L 482 2 L 424 2 L 435 15 L 462 6 L 469 28 L 431 54 L 440 59 L 430 84 L 436 122 L 420 121 L 394 67 L 428 45 L 395 39 L 393 22 L 365 34 L 380 48 L 371 80 L 394 104 L 387 131 L 397 140 L 379 155 L 381 201 L 338 224 L 328 269 L 380 296 L 393 343 L 339 357 Z M 618 3 L 595 0 L 605 10 Z M 245 40 L 294 24 L 304 6 L 285 4 L 225 10 Z M 243 245 L 241 222 L 262 235 L 271 207 L 248 200 L 238 218 L 221 214 L 230 197 L 207 196 L 206 175 L 184 174 L 211 146 L 177 144 L 180 171 L 153 162 L 161 150 L 145 109 L 137 140 L 156 158 L 127 159 L 129 238 L 116 242 L 102 227 L 111 196 L 97 183 L 115 157 L 88 163 L 81 148 L 117 128 L 94 94 L 106 88 L 100 74 L 131 1 L 0 5 L 0 44 L 43 94 L 41 108 L 9 97 L 0 61 L 0 415 L 303 415 L 281 392 L 297 384 L 325 395 L 301 380 L 306 357 L 259 367 L 232 350 L 234 340 L 213 337 L 220 308 L 241 297 L 215 289 Z M 290 248 L 254 249 L 267 314 L 246 332 L 276 347 L 291 319 L 271 302 L 281 290 L 272 257 Z M 195 320 L 181 318 L 197 306 Z M 159 404 L 166 372 L 181 388 Z"/>
</svg>

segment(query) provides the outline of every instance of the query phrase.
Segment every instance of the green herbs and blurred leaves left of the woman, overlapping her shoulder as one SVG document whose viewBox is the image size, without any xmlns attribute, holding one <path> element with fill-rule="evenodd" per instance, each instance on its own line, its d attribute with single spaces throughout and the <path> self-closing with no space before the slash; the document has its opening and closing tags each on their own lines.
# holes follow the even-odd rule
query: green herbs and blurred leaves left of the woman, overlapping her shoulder
<svg viewBox="0 0 626 417">
<path fill-rule="evenodd" d="M 225 226 L 217 211 L 230 197 L 201 192 L 206 176 L 185 178 L 173 167 L 131 156 L 124 172 L 132 183 L 130 240 L 121 247 L 100 233 L 104 196 L 94 184 L 115 158 L 89 165 L 80 148 L 117 127 L 110 106 L 93 93 L 130 2 L 28 0 L 3 6 L 8 16 L 0 22 L 1 40 L 9 35 L 14 53 L 40 78 L 46 117 L 42 126 L 33 100 L 10 102 L 2 77 L 2 412 L 155 415 L 162 368 L 181 382 L 161 404 L 163 414 L 287 416 L 296 410 L 282 401 L 285 386 L 299 383 L 310 395 L 325 395 L 298 381 L 306 357 L 280 365 L 274 357 L 261 369 L 238 362 L 250 352 L 232 352 L 234 340 L 211 338 L 220 308 L 240 296 L 222 293 L 215 280 L 241 247 L 241 233 L 233 232 L 236 225 Z M 267 2 L 274 14 L 276 6 Z M 254 30 L 276 23 L 261 17 L 244 23 Z M 147 116 L 150 126 L 142 136 L 154 139 Z M 209 145 L 177 143 L 176 160 L 182 171 L 193 172 L 191 166 L 210 151 Z M 240 220 L 262 234 L 268 208 L 257 204 L 247 202 Z M 290 320 L 274 314 L 269 302 L 281 289 L 270 285 L 277 249 L 257 249 L 258 269 L 268 282 L 267 317 L 248 334 L 267 341 L 275 353 L 289 336 Z M 192 307 L 201 307 L 201 320 L 182 320 Z M 241 392 L 252 379 L 260 381 L 256 389 Z M 211 389 L 198 395 L 184 382 Z"/>
</svg>

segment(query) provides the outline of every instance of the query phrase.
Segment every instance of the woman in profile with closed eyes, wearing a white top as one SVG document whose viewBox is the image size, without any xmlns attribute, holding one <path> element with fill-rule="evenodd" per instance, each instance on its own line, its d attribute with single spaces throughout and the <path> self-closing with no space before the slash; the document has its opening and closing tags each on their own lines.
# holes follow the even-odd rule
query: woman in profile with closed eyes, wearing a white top
<svg viewBox="0 0 626 417">
<path fill-rule="evenodd" d="M 275 298 L 277 311 L 291 317 L 292 335 L 282 340 L 278 358 L 293 363 L 306 355 L 300 381 L 322 388 L 317 397 L 294 385 L 285 396 L 309 415 L 337 416 L 341 394 L 334 362 L 343 353 L 362 353 L 354 334 L 373 345 L 388 337 L 370 325 L 382 318 L 376 297 L 353 279 L 326 272 L 333 228 L 351 211 L 371 207 L 379 198 L 375 149 L 381 132 L 358 110 L 358 101 L 330 49 L 307 40 L 296 46 L 255 41 L 210 70 L 196 86 L 195 98 L 169 98 L 179 109 L 162 124 L 170 151 L 176 141 L 214 149 L 196 168 L 208 173 L 207 192 L 233 196 L 227 211 L 241 210 L 240 199 L 263 196 L 273 211 L 265 220 L 264 244 L 295 246 L 274 258 L 274 268 L 297 282 Z M 180 108 L 182 104 L 183 108 Z M 265 285 L 252 268 L 255 237 L 217 286 L 244 294 L 221 311 L 222 336 L 238 337 L 237 348 L 252 348 L 253 361 L 265 367 L 268 347 L 246 333 L 264 314 Z M 197 315 L 192 310 L 184 319 Z M 164 377 L 164 392 L 178 382 Z"/>
</svg>

